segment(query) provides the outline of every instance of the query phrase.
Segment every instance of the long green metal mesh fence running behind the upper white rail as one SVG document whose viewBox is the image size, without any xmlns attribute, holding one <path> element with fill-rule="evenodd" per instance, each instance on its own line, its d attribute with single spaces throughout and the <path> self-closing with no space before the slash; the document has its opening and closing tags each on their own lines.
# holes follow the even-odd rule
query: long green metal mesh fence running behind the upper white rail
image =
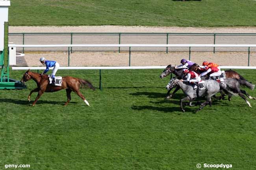
<svg viewBox="0 0 256 170">
<path fill-rule="evenodd" d="M 14 44 L 255 44 L 256 33 L 9 33 Z M 25 49 L 17 49 L 24 53 Z M 36 51 L 128 51 L 129 48 L 58 48 Z M 133 48 L 141 51 L 141 48 Z M 192 50 L 190 48 L 190 50 Z M 193 48 L 193 51 L 224 50 L 223 48 Z M 245 51 L 230 48 L 230 51 Z M 252 48 L 256 51 L 256 48 Z M 148 48 L 143 51 L 187 51 L 185 48 Z"/>
</svg>

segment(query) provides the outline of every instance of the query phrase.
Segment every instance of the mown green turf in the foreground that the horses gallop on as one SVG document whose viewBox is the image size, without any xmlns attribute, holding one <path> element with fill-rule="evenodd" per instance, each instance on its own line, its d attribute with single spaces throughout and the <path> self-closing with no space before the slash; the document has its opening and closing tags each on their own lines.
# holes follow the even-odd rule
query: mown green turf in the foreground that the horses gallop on
<svg viewBox="0 0 256 170">
<path fill-rule="evenodd" d="M 195 114 L 197 107 L 187 106 L 183 113 L 181 91 L 164 99 L 169 78 L 160 79 L 161 71 L 102 70 L 102 91 L 81 90 L 91 107 L 74 93 L 64 107 L 65 90 L 43 94 L 33 107 L 27 101 L 33 80 L 26 90 L 1 90 L 1 169 L 30 164 L 35 170 L 196 170 L 198 163 L 223 163 L 255 170 L 256 101 L 249 108 L 240 97 L 214 100 L 211 108 Z M 255 70 L 237 71 L 256 84 Z M 20 80 L 23 73 L 11 71 L 11 78 Z M 99 83 L 98 70 L 58 75 Z"/>
</svg>

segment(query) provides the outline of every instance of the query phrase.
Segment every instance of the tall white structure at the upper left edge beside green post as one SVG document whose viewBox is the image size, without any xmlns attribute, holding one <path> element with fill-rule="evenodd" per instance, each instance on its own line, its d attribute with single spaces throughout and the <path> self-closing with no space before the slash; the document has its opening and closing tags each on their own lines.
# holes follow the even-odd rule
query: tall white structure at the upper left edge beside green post
<svg viewBox="0 0 256 170">
<path fill-rule="evenodd" d="M 4 50 L 4 22 L 8 22 L 8 7 L 10 5 L 9 0 L 0 0 L 0 51 Z"/>
</svg>

